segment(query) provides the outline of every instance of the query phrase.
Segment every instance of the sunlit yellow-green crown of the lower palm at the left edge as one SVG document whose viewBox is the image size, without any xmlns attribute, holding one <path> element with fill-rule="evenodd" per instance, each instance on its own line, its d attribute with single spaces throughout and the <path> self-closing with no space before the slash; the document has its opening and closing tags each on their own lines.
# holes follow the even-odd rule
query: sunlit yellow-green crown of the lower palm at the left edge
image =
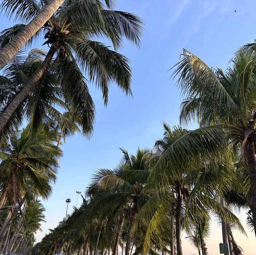
<svg viewBox="0 0 256 255">
<path fill-rule="evenodd" d="M 56 180 L 58 158 L 62 152 L 52 136 L 42 131 L 31 136 L 29 128 L 14 132 L 10 144 L 0 152 L 2 196 L 11 205 L 19 203 L 23 192 L 31 192 L 31 186 L 43 198 L 51 193 L 50 183 Z"/>
</svg>

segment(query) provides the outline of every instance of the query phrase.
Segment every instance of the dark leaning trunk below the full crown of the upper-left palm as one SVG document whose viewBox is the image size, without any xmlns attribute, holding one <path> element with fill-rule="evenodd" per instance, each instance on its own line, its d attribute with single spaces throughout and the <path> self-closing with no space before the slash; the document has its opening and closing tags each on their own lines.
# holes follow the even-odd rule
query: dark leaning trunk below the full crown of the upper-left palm
<svg viewBox="0 0 256 255">
<path fill-rule="evenodd" d="M 54 2 L 56 0 L 53 0 Z M 54 56 L 54 53 L 58 49 L 58 43 L 54 42 L 52 43 L 50 50 L 48 51 L 43 63 L 41 66 L 36 70 L 36 72 L 32 75 L 31 79 L 28 81 L 28 83 L 24 86 L 22 91 L 14 97 L 14 99 L 11 101 L 11 103 L 6 107 L 4 112 L 0 115 L 0 131 L 4 128 L 14 111 L 17 109 L 17 107 L 26 99 L 26 97 L 30 94 L 30 92 L 33 90 L 36 83 L 39 81 L 39 79 L 42 77 L 46 69 L 48 68 L 50 62 L 52 61 L 52 58 Z"/>
</svg>

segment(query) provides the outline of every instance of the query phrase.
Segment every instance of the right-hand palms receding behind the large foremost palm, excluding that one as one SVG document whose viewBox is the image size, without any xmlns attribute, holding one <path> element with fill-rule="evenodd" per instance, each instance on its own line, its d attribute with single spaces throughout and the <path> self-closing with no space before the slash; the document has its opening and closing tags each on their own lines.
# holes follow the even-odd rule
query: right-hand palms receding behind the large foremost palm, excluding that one
<svg viewBox="0 0 256 255">
<path fill-rule="evenodd" d="M 154 173 L 168 148 L 192 132 L 164 124 L 164 136 L 153 150 L 138 148 L 130 155 L 121 149 L 119 164 L 93 175 L 86 188 L 88 199 L 51 229 L 32 254 L 117 255 L 119 249 L 125 255 L 181 255 L 181 233 L 185 231 L 198 254 L 207 255 L 213 215 L 222 224 L 230 255 L 242 254 L 232 233 L 239 229 L 245 234 L 233 214 L 235 207 L 250 207 L 242 197 L 246 182 L 238 182 L 241 166 L 227 162 L 215 168 L 217 165 L 201 160 L 200 167 L 191 165 L 183 171 L 170 167 L 162 176 Z"/>
</svg>

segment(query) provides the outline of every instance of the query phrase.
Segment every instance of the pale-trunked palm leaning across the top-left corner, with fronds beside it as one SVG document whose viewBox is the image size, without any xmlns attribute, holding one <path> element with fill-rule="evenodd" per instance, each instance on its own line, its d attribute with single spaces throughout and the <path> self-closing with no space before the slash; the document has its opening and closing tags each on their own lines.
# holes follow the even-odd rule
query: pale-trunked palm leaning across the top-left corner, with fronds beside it
<svg viewBox="0 0 256 255">
<path fill-rule="evenodd" d="M 6 10 L 9 16 L 13 14 L 16 17 L 22 17 L 23 20 L 32 19 L 27 25 L 23 25 L 17 34 L 11 38 L 10 43 L 7 43 L 0 50 L 0 69 L 2 69 L 14 55 L 35 36 L 38 31 L 49 22 L 52 15 L 63 4 L 64 0 L 51 0 L 51 1 L 2 1 L 2 9 Z M 112 4 L 111 0 L 105 0 L 108 7 Z"/>
</svg>

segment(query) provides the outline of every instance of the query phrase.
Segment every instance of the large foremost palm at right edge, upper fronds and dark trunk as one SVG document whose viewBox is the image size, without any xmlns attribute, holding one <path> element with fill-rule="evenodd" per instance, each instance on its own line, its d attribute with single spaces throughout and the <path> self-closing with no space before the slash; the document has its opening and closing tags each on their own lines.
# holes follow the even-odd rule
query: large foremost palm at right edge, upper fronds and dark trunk
<svg viewBox="0 0 256 255">
<path fill-rule="evenodd" d="M 256 234 L 254 59 L 253 50 L 239 50 L 231 60 L 231 66 L 224 72 L 222 69 L 211 69 L 201 59 L 184 50 L 173 75 L 178 76 L 178 84 L 186 97 L 181 105 L 180 121 L 189 123 L 197 120 L 200 130 L 211 129 L 209 136 L 215 136 L 213 130 L 219 132 L 218 137 L 215 136 L 216 142 L 231 140 L 234 146 L 240 146 L 241 156 L 247 161 L 244 164 L 248 164 L 249 168 Z M 213 126 L 208 126 L 210 124 Z M 219 151 L 221 147 L 220 144 Z"/>
</svg>

